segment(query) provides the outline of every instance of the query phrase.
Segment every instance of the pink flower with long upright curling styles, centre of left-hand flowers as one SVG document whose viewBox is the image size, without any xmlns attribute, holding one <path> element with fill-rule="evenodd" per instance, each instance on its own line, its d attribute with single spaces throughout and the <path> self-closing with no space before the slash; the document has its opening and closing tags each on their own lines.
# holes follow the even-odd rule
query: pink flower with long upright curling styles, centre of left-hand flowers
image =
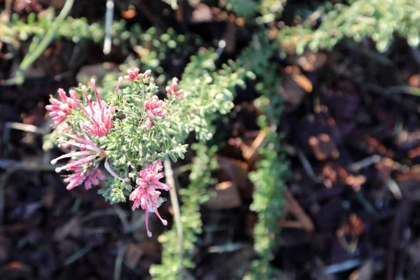
<svg viewBox="0 0 420 280">
<path fill-rule="evenodd" d="M 116 88 L 116 92 L 118 92 L 120 88 L 120 84 L 123 78 L 118 79 L 118 85 Z M 76 101 L 76 104 L 79 108 L 85 113 L 85 115 L 90 119 L 83 123 L 87 132 L 94 136 L 102 137 L 108 134 L 109 130 L 113 127 L 112 117 L 113 113 L 116 110 L 113 106 L 108 106 L 106 102 L 101 101 L 99 98 L 99 94 L 95 85 L 95 80 L 92 79 L 90 82 L 93 85 L 94 95 L 97 99 L 97 102 L 90 102 L 89 98 L 87 98 L 87 88 L 83 85 L 82 92 L 85 95 L 85 99 L 87 101 L 87 107 L 84 107 L 78 100 L 76 99 L 76 92 L 74 90 L 70 91 L 71 97 Z"/>
</svg>

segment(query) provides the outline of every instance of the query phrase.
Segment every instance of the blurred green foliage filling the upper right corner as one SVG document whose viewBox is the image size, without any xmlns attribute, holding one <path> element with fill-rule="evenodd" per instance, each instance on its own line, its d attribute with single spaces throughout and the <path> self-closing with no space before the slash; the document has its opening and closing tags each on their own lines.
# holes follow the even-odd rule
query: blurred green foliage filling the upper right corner
<svg viewBox="0 0 420 280">
<path fill-rule="evenodd" d="M 321 13 L 321 25 L 314 31 L 310 22 L 285 27 L 279 33 L 279 43 L 302 54 L 304 48 L 316 52 L 330 50 L 342 38 L 360 41 L 365 36 L 376 42 L 379 52 L 385 52 L 395 33 L 407 38 L 409 45 L 419 45 L 420 1 L 417 0 L 357 0 L 351 5 L 336 4 L 328 13 Z"/>
</svg>

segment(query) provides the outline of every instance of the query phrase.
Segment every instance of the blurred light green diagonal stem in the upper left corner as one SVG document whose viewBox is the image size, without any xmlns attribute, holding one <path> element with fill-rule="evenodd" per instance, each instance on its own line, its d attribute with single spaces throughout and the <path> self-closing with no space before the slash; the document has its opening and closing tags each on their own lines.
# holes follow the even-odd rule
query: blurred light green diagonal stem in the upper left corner
<svg viewBox="0 0 420 280">
<path fill-rule="evenodd" d="M 27 55 L 22 60 L 19 69 L 15 72 L 13 78 L 10 78 L 6 81 L 6 85 L 22 85 L 22 83 L 25 81 L 27 71 L 31 65 L 35 62 L 36 59 L 38 59 L 38 57 L 43 54 L 48 45 L 50 45 L 51 41 L 55 38 L 56 31 L 59 28 L 59 23 L 62 22 L 62 20 L 64 20 L 69 14 L 71 7 L 73 6 L 73 2 L 74 0 L 66 0 L 66 3 L 64 3 L 61 12 L 57 18 L 55 18 L 54 22 L 52 22 L 50 28 L 42 38 L 41 42 L 36 45 L 33 52 L 27 53 Z"/>
</svg>

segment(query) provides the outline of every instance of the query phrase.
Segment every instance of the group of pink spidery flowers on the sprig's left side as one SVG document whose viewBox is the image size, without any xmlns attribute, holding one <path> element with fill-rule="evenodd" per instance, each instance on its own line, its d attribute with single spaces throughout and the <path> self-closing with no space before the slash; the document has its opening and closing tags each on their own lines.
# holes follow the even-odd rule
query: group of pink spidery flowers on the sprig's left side
<svg viewBox="0 0 420 280">
<path fill-rule="evenodd" d="M 118 79 L 116 92 L 118 92 L 121 81 L 122 78 Z M 97 144 L 94 144 L 94 142 L 89 137 L 87 137 L 85 130 L 93 137 L 102 137 L 108 134 L 109 130 L 111 130 L 113 127 L 111 120 L 113 118 L 115 108 L 113 106 L 108 106 L 106 102 L 101 101 L 97 92 L 95 80 L 92 79 L 91 83 L 93 85 L 97 102 L 90 102 L 89 98 L 87 97 L 87 87 L 83 86 L 81 90 L 87 102 L 86 107 L 80 104 L 78 101 L 75 90 L 70 90 L 70 97 L 66 97 L 66 94 L 62 89 L 59 89 L 59 94 L 62 100 L 66 103 L 59 104 L 57 109 L 54 107 L 57 106 L 57 99 L 50 99 L 52 105 L 45 106 L 45 109 L 50 109 L 51 111 L 54 109 L 55 111 L 58 111 L 57 116 L 58 114 L 59 116 L 62 116 L 62 118 L 59 119 L 59 123 L 61 124 L 57 127 L 57 132 L 60 136 L 66 137 L 66 139 L 60 138 L 57 140 L 57 142 L 61 144 L 62 147 L 72 148 L 70 153 L 66 153 L 65 155 L 51 160 L 51 164 L 55 165 L 58 160 L 70 158 L 66 165 L 57 167 L 55 169 L 55 172 L 57 173 L 62 172 L 63 170 L 66 170 L 67 172 L 73 172 L 69 176 L 66 176 L 66 178 L 63 180 L 64 183 L 69 183 L 66 187 L 67 190 L 71 190 L 83 182 L 85 183 L 85 188 L 90 189 L 92 188 L 92 185 L 97 186 L 99 181 L 104 179 L 104 176 L 99 171 L 98 167 L 99 162 L 101 162 L 104 158 L 107 158 L 107 155 L 104 150 L 98 148 Z M 66 106 L 66 104 L 70 104 L 71 106 Z M 71 127 L 68 123 L 63 123 L 71 111 L 76 109 L 76 106 L 78 106 L 89 119 L 82 120 L 80 123 L 78 123 L 80 132 L 83 134 L 83 138 L 80 136 L 80 132 L 76 130 L 76 127 Z M 51 113 L 55 113 L 55 111 L 52 111 Z M 109 167 L 108 162 L 106 162 L 105 168 L 109 174 L 120 179 L 121 181 L 130 181 L 129 179 L 120 178 L 115 172 L 113 172 L 111 167 Z"/>
</svg>

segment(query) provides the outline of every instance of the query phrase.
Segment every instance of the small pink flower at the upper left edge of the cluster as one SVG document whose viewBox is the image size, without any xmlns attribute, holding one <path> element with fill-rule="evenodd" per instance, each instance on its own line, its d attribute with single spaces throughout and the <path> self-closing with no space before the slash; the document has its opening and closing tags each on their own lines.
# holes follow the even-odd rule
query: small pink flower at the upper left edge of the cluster
<svg viewBox="0 0 420 280">
<path fill-rule="evenodd" d="M 66 120 L 67 116 L 76 108 L 76 102 L 66 96 L 66 92 L 62 89 L 58 89 L 59 97 L 62 99 L 60 102 L 58 99 L 50 98 L 51 105 L 45 106 L 45 109 L 50 111 L 48 115 L 52 117 L 55 125 L 59 125 L 60 123 Z"/>
</svg>

